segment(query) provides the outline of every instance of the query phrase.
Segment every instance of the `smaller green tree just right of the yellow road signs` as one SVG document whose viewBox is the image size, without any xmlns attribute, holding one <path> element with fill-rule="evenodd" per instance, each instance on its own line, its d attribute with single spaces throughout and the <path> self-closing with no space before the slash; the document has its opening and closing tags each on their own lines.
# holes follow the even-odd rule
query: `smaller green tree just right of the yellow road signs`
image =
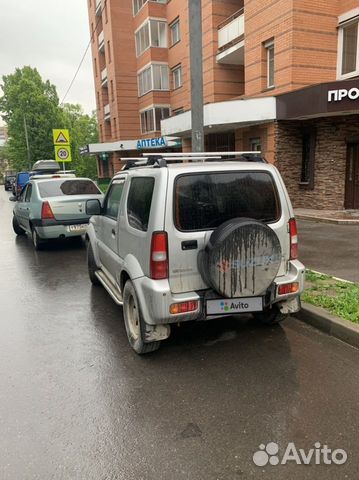
<svg viewBox="0 0 359 480">
<path fill-rule="evenodd" d="M 72 163 L 68 169 L 75 170 L 78 176 L 96 178 L 96 158 L 80 155 L 80 147 L 98 142 L 98 130 L 95 113 L 84 114 L 80 105 L 66 103 L 62 108 L 62 128 L 68 128 L 71 141 Z"/>
</svg>

